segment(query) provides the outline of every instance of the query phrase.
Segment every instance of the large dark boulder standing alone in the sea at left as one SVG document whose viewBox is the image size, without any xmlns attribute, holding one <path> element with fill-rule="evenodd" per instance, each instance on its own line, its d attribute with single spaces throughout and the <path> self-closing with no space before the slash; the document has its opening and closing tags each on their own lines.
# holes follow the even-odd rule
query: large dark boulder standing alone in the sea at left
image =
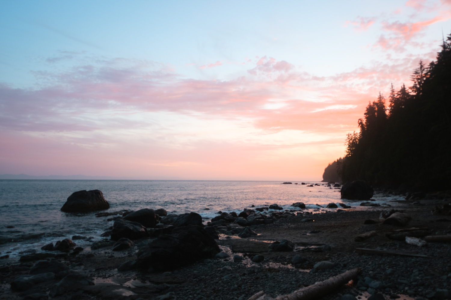
<svg viewBox="0 0 451 300">
<path fill-rule="evenodd" d="M 72 193 L 67 198 L 66 203 L 61 207 L 64 212 L 87 212 L 93 210 L 106 210 L 110 208 L 110 204 L 105 200 L 103 194 L 99 190 L 78 191 Z"/>
</svg>

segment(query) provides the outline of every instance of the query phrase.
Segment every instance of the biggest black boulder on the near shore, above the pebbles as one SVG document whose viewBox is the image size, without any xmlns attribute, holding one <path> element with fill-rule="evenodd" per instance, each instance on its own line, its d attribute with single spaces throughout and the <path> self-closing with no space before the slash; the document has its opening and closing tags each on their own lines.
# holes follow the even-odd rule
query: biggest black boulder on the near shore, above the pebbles
<svg viewBox="0 0 451 300">
<path fill-rule="evenodd" d="M 163 234 L 141 248 L 137 263 L 141 268 L 160 271 L 177 269 L 220 252 L 218 244 L 199 225 L 175 228 L 173 235 Z"/>
</svg>

